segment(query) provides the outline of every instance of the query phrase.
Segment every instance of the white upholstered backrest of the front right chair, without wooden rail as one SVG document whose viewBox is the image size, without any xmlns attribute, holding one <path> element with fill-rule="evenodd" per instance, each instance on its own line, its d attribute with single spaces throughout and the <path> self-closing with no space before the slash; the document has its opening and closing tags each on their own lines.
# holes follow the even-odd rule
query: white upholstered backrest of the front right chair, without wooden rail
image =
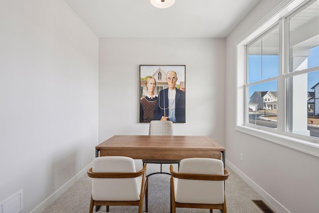
<svg viewBox="0 0 319 213">
<path fill-rule="evenodd" d="M 224 175 L 221 160 L 210 158 L 188 158 L 180 161 L 179 173 L 201 175 Z M 175 178 L 174 178 L 175 179 Z M 176 181 L 177 179 L 175 179 Z M 223 204 L 224 181 L 202 181 L 178 179 L 175 201 L 192 204 Z"/>
</svg>

